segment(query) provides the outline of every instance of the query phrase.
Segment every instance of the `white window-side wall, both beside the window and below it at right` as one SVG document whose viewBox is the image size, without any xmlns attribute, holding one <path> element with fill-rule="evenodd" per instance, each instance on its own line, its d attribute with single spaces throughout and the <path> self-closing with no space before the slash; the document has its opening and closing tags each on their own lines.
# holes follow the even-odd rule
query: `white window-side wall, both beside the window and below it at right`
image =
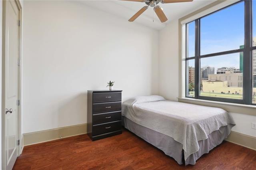
<svg viewBox="0 0 256 170">
<path fill-rule="evenodd" d="M 159 94 L 176 101 L 181 88 L 178 83 L 178 20 L 170 22 L 161 30 L 159 37 Z M 251 128 L 251 122 L 256 122 L 256 116 L 240 113 L 231 115 L 236 122 L 232 131 L 256 137 L 256 130 Z"/>
</svg>

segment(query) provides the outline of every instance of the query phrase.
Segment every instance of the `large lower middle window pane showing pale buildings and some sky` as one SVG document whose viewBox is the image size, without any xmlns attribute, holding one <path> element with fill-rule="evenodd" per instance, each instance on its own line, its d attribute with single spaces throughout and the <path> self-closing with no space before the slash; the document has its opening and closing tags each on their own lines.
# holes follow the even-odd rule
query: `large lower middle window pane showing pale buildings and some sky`
<svg viewBox="0 0 256 170">
<path fill-rule="evenodd" d="M 242 95 L 228 95 L 228 91 L 240 91 L 243 89 L 238 81 L 243 74 L 234 73 L 234 71 L 226 71 L 226 73 L 216 74 L 218 69 L 226 68 L 238 68 L 239 69 L 239 53 L 232 53 L 227 55 L 218 55 L 213 57 L 205 57 L 200 59 L 200 96 L 218 97 L 218 98 L 231 98 L 242 99 Z M 217 75 L 217 78 L 215 78 Z M 228 76 L 227 76 L 228 75 Z M 236 79 L 228 80 L 228 77 L 236 77 Z M 231 79 L 231 78 L 230 78 Z M 232 87 L 232 83 L 236 83 L 236 87 Z M 212 91 L 212 93 L 210 93 Z M 223 92 L 223 93 L 221 93 Z M 241 94 L 240 93 L 240 94 Z"/>
</svg>

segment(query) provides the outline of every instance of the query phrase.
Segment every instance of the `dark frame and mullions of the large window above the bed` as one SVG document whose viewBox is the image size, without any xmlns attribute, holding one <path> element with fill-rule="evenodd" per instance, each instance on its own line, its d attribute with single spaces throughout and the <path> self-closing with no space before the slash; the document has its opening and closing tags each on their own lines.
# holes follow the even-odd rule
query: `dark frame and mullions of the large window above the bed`
<svg viewBox="0 0 256 170">
<path fill-rule="evenodd" d="M 209 53 L 200 55 L 200 20 L 208 15 L 214 14 L 220 10 L 228 8 L 230 6 L 234 6 L 238 3 L 244 2 L 244 48 L 243 49 L 233 49 L 228 51 L 222 51 L 217 53 Z M 254 2 L 256 3 L 256 2 Z M 195 22 L 195 56 L 188 57 L 187 50 L 188 50 L 188 43 L 187 43 L 187 36 L 188 36 L 188 24 L 191 22 Z M 193 99 L 202 99 L 202 100 L 210 100 L 210 101 L 220 101 L 220 102 L 228 102 L 228 103 L 239 103 L 239 104 L 246 104 L 246 105 L 256 105 L 252 103 L 252 53 L 253 50 L 256 49 L 256 46 L 252 46 L 252 0 L 239 0 L 234 2 L 228 6 L 215 10 L 214 12 L 210 12 L 196 20 L 192 20 L 185 24 L 185 34 L 186 34 L 186 56 L 185 56 L 185 97 L 186 98 L 193 98 Z M 254 21 L 256 22 L 256 21 Z M 249 31 L 246 31 L 249 30 Z M 228 99 L 228 98 L 218 98 L 218 97 L 206 97 L 200 96 L 200 59 L 205 57 L 214 57 L 219 55 L 226 55 L 232 53 L 240 53 L 243 52 L 243 76 L 242 76 L 242 84 L 243 84 L 243 99 Z M 187 61 L 194 59 L 195 62 L 195 89 L 194 89 L 194 97 L 188 96 L 188 65 Z M 248 67 L 249 66 L 249 67 Z"/>
</svg>

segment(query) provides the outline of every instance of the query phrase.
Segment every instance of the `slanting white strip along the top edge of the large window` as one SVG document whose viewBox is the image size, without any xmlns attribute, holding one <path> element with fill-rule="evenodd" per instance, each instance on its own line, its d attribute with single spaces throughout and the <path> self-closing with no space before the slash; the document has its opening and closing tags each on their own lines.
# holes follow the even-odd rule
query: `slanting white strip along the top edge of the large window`
<svg viewBox="0 0 256 170">
<path fill-rule="evenodd" d="M 224 7 L 226 7 L 226 6 L 229 6 L 229 5 L 231 5 L 231 4 L 234 4 L 235 2 L 238 2 L 238 1 L 240 1 L 240 0 L 226 0 L 226 1 L 220 3 L 220 4 L 216 5 L 216 6 L 213 6 L 213 7 L 211 7 L 211 8 L 208 8 L 207 10 L 204 10 L 204 11 L 202 11 L 202 12 L 199 12 L 198 14 L 196 14 L 196 15 L 194 15 L 194 16 L 191 16 L 191 17 L 189 17 L 189 18 L 186 18 L 185 20 L 182 20 L 182 21 L 180 22 L 180 24 L 182 24 L 182 25 L 183 25 L 183 24 L 187 24 L 188 22 L 191 22 L 191 21 L 193 21 L 193 20 L 196 20 L 196 19 L 198 19 L 198 18 L 201 18 L 201 17 L 203 17 L 203 16 L 206 16 L 207 14 L 210 14 L 210 13 L 212 13 L 212 12 L 214 12 L 214 11 L 220 10 L 221 8 L 224 8 Z"/>
</svg>

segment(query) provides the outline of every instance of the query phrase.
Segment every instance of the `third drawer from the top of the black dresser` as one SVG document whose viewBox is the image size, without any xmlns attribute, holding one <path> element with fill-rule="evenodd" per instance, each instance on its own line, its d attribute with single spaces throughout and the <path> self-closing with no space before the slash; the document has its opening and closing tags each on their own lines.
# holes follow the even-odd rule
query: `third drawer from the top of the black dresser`
<svg viewBox="0 0 256 170">
<path fill-rule="evenodd" d="M 110 112 L 110 113 L 100 113 L 93 115 L 92 124 L 108 123 L 121 120 L 121 111 L 120 112 Z"/>
</svg>

